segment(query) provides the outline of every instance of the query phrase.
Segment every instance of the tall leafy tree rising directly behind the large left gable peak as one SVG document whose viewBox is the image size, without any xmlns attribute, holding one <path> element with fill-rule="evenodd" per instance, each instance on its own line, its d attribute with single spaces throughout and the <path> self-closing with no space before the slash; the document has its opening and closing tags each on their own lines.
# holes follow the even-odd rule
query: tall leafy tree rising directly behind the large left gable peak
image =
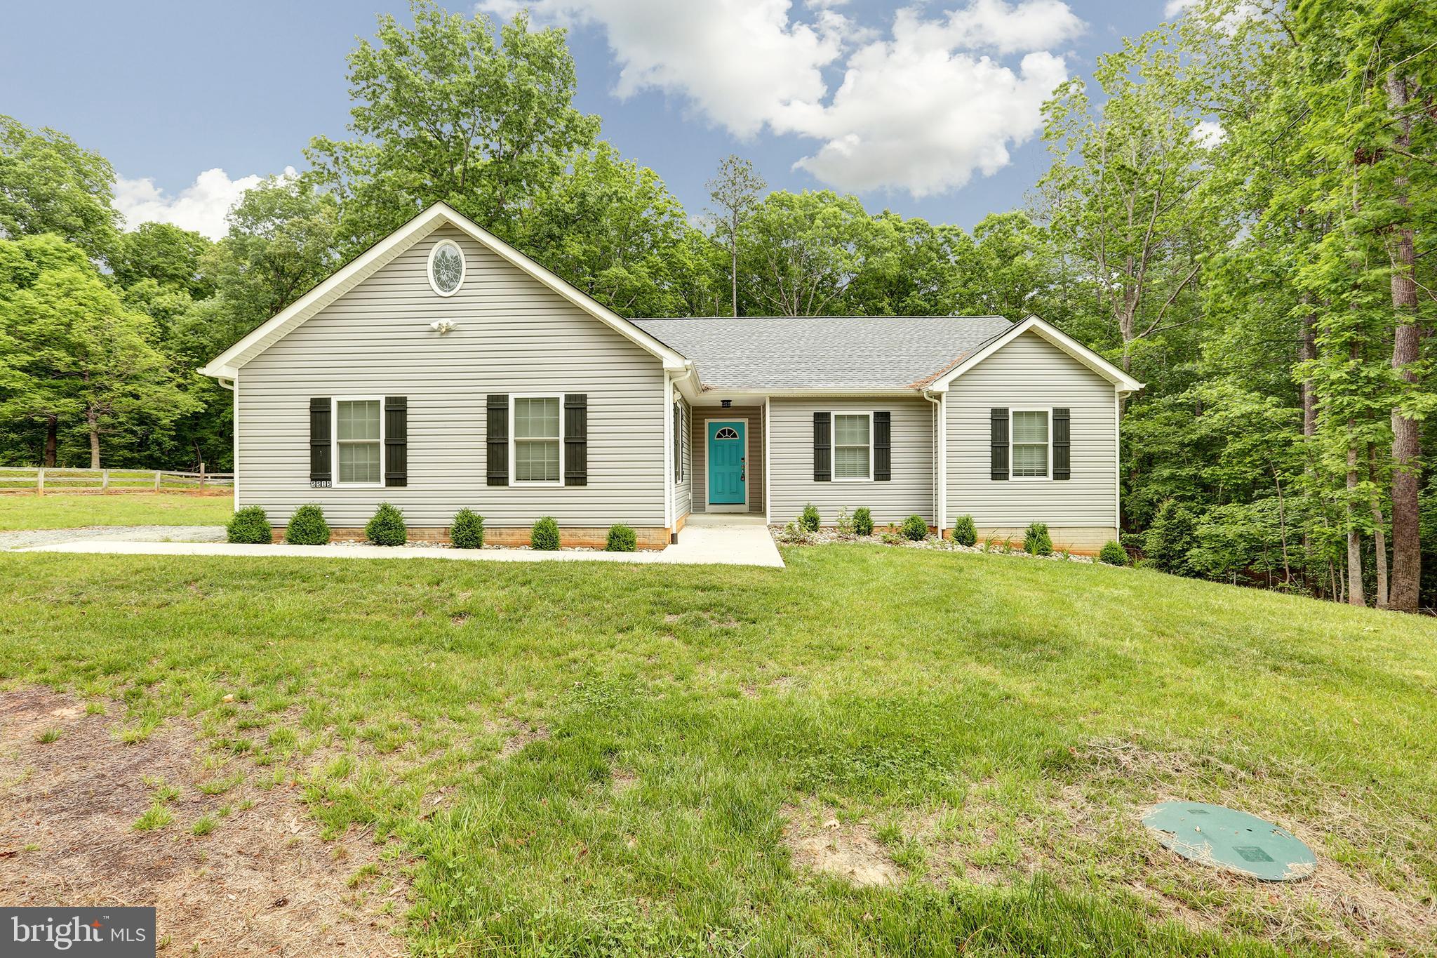
<svg viewBox="0 0 1437 958">
<path fill-rule="evenodd" d="M 563 30 L 499 30 L 433 0 L 411 0 L 414 26 L 379 16 L 375 42 L 349 55 L 349 131 L 305 151 L 339 201 L 345 259 L 443 201 L 504 240 L 536 194 L 593 147 L 598 118 L 573 108 Z"/>
</svg>

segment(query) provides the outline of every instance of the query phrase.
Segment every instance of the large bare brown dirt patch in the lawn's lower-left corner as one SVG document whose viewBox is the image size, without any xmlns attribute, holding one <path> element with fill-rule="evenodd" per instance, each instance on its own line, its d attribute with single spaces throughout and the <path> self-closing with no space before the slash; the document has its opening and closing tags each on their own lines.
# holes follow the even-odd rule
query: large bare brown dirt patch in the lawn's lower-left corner
<svg viewBox="0 0 1437 958">
<path fill-rule="evenodd" d="M 368 834 L 322 842 L 296 787 L 254 784 L 266 768 L 205 794 L 182 722 L 118 730 L 68 695 L 0 691 L 0 902 L 154 905 L 175 954 L 405 954 L 404 886 Z"/>
</svg>

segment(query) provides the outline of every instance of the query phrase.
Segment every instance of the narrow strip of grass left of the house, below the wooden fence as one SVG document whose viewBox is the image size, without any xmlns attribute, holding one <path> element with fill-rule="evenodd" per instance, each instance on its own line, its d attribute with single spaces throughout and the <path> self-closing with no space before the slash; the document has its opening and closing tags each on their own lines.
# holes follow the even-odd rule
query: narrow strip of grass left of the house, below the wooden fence
<svg viewBox="0 0 1437 958">
<path fill-rule="evenodd" d="M 234 498 L 187 493 L 0 496 L 0 531 L 76 526 L 223 526 Z"/>
</svg>

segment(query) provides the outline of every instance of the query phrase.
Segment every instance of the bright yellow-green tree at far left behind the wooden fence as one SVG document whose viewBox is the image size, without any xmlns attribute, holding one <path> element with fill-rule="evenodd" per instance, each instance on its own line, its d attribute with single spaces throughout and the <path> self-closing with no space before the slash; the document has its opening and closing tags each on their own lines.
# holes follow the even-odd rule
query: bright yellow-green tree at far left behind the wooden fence
<svg viewBox="0 0 1437 958">
<path fill-rule="evenodd" d="M 152 320 L 125 309 L 83 253 L 52 236 L 0 246 L 10 247 L 0 257 L 0 329 L 11 345 L 0 408 L 52 429 L 73 425 L 91 468 L 101 467 L 103 435 L 164 428 L 194 408 L 155 348 Z M 53 432 L 45 455 L 53 465 Z"/>
</svg>

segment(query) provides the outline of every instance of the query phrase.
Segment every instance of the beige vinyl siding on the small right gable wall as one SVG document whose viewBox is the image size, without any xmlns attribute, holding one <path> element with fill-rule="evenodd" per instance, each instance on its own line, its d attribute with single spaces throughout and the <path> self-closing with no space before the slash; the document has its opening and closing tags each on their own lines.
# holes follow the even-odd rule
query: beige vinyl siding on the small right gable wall
<svg viewBox="0 0 1437 958">
<path fill-rule="evenodd" d="M 990 421 L 996 406 L 1069 409 L 1072 478 L 993 481 Z M 1112 537 L 1118 478 L 1109 381 L 1029 332 L 954 379 L 946 415 L 950 526 L 967 513 L 980 530 L 1022 530 L 1036 521 L 1055 533 L 1059 527 L 1073 530 L 1066 534 L 1073 544 L 1099 534 Z M 1058 534 L 1053 539 L 1058 541 Z"/>
</svg>

